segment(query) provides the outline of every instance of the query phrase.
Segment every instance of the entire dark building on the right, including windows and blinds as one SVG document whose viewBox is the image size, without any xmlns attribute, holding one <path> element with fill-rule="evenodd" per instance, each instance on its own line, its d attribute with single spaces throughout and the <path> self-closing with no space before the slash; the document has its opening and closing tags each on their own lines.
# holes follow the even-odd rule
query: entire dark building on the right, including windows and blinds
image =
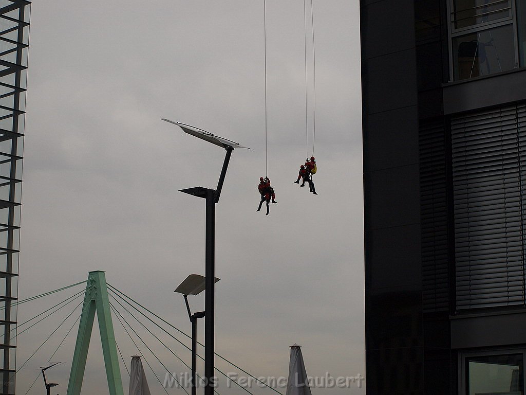
<svg viewBox="0 0 526 395">
<path fill-rule="evenodd" d="M 526 3 L 361 0 L 369 395 L 524 395 Z"/>
</svg>

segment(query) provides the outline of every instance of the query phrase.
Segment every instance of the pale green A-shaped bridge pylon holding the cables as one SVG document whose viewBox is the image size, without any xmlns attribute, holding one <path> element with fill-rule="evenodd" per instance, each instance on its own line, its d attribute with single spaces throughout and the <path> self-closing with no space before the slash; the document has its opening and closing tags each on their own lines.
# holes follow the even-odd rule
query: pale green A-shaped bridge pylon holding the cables
<svg viewBox="0 0 526 395">
<path fill-rule="evenodd" d="M 120 378 L 119 361 L 115 345 L 115 333 L 113 332 L 112 314 L 109 310 L 108 287 L 106 275 L 103 271 L 89 272 L 82 315 L 78 325 L 77 343 L 73 364 L 69 374 L 67 395 L 79 395 L 84 379 L 86 358 L 88 356 L 89 340 L 92 337 L 93 320 L 97 311 L 99 322 L 100 340 L 104 353 L 104 364 L 106 365 L 106 376 L 108 377 L 108 388 L 110 395 L 124 395 L 123 382 Z"/>
</svg>

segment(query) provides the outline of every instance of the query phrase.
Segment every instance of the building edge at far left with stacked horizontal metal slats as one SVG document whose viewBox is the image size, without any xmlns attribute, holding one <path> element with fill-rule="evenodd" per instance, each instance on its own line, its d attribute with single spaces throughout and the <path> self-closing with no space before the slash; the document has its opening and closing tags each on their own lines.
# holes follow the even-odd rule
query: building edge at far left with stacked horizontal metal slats
<svg viewBox="0 0 526 395">
<path fill-rule="evenodd" d="M 15 393 L 18 242 L 31 2 L 0 0 L 0 385 Z"/>
</svg>

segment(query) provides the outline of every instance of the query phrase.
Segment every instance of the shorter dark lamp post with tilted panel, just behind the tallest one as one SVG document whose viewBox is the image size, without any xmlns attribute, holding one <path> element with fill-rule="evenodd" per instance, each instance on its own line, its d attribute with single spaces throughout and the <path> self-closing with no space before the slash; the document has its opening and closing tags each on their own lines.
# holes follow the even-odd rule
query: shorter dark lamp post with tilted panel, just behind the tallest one
<svg viewBox="0 0 526 395">
<path fill-rule="evenodd" d="M 218 282 L 216 277 L 214 283 Z M 197 393 L 197 319 L 205 317 L 204 311 L 196 311 L 194 314 L 190 312 L 190 305 L 188 304 L 188 295 L 198 295 L 205 290 L 206 279 L 199 274 L 190 274 L 185 281 L 179 284 L 179 287 L 174 292 L 182 293 L 185 298 L 186 310 L 188 311 L 188 318 L 192 324 L 192 364 L 191 364 L 191 395 Z"/>
</svg>

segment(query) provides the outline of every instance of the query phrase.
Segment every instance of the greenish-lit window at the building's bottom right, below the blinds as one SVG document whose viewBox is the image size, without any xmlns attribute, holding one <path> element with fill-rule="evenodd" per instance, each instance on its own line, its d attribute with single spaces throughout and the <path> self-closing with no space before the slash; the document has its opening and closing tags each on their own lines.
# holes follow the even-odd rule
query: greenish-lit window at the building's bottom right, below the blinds
<svg viewBox="0 0 526 395">
<path fill-rule="evenodd" d="M 522 354 L 467 357 L 467 395 L 523 395 Z"/>
</svg>

